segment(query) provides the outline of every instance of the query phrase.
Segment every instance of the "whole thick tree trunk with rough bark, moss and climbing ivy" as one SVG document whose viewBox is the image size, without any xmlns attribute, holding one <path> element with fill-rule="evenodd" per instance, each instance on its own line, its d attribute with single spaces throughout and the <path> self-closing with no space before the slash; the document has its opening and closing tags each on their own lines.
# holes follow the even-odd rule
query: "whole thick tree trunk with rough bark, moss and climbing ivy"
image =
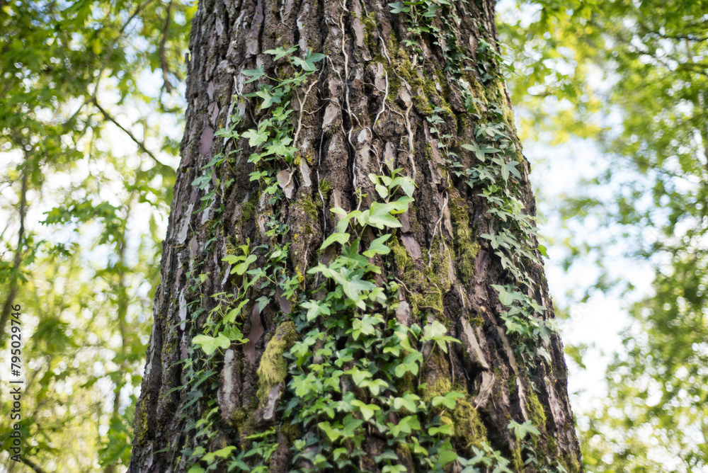
<svg viewBox="0 0 708 473">
<path fill-rule="evenodd" d="M 388 1 L 200 1 L 131 472 L 581 471 L 494 1 Z"/>
</svg>

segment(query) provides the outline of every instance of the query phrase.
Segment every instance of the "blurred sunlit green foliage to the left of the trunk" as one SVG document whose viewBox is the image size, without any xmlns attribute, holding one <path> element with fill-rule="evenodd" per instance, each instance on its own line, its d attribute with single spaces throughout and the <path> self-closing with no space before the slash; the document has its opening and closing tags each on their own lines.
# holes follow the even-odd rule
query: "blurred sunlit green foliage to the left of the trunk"
<svg viewBox="0 0 708 473">
<path fill-rule="evenodd" d="M 22 306 L 21 448 L 45 471 L 130 459 L 193 11 L 178 0 L 0 4 L 0 306 Z"/>
</svg>

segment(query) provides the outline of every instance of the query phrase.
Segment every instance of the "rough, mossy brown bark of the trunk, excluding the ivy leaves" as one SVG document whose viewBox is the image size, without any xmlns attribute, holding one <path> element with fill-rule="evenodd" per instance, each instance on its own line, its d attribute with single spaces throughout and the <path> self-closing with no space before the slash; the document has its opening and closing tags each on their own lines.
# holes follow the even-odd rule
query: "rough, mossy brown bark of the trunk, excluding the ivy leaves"
<svg viewBox="0 0 708 473">
<path fill-rule="evenodd" d="M 444 355 L 434 344 L 424 347 L 425 365 L 406 389 L 425 402 L 451 390 L 462 393 L 455 409 L 440 414 L 454 424 L 450 439 L 461 456 L 472 457 L 474 448 L 488 445 L 508 458 L 515 471 L 539 471 L 533 462 L 524 466 L 531 458 L 529 448 L 523 448 L 509 428 L 511 421 L 530 421 L 540 432 L 527 437 L 539 465 L 554 465 L 552 471 L 563 471 L 561 467 L 581 471 L 561 342 L 555 334 L 547 342 L 539 340 L 548 358 L 530 360 L 508 336 L 500 317 L 507 308 L 491 285 L 509 285 L 515 277 L 493 241 L 481 237 L 495 235 L 499 217 L 488 212 L 491 207 L 481 197 L 481 188 L 468 186 L 450 167 L 451 160 L 468 169 L 478 162 L 459 145 L 475 142 L 477 125 L 494 107 L 504 109 L 506 129 L 513 132 L 506 86 L 494 79 L 498 64 L 482 54 L 481 45 L 496 40 L 494 2 L 450 2 L 430 20 L 442 33 L 423 32 L 422 38 L 409 31 L 404 14 L 392 13 L 388 2 L 200 1 L 190 38 L 182 162 L 135 411 L 131 472 L 185 472 L 194 461 L 190 455 L 199 448 L 204 453 L 224 452 L 227 460 L 217 471 L 226 471 L 229 458 L 256 442 L 247 437 L 268 429 L 275 442 L 268 460 L 272 471 L 318 470 L 304 460 L 293 464 L 292 446 L 313 435 L 323 441 L 326 437 L 316 426 L 304 431 L 285 423 L 282 405 L 278 407 L 280 399 L 292 396 L 285 393 L 290 361 L 280 365 L 278 360 L 297 338 L 295 326 L 287 322 L 299 309 L 297 295 L 287 298 L 281 291 L 262 307 L 256 300 L 263 294 L 253 288 L 251 302 L 238 319 L 249 343 L 232 343 L 205 357 L 191 341 L 213 317 L 210 311 L 219 304 L 219 296 L 212 296 L 234 290 L 234 275 L 229 278 L 232 265 L 222 258 L 246 242 L 251 248 L 274 244 L 268 225 L 276 216 L 287 224 L 278 244 L 290 244 L 285 264 L 290 275 L 301 278 L 296 292 L 321 299 L 311 292 L 321 278 L 317 282 L 307 269 L 336 256 L 335 246 L 318 251 L 337 226 L 329 209 L 350 212 L 358 206 L 357 195 L 364 195 L 362 210 L 370 208 L 379 190 L 368 176 L 390 176 L 399 168 L 402 176 L 416 183 L 415 203 L 397 216 L 401 228 L 387 242 L 391 253 L 385 261 L 379 261 L 381 256 L 372 260 L 384 268 L 375 283 L 381 285 L 386 278 L 401 287 L 392 314 L 399 324 L 440 321 L 447 336 L 461 342 L 450 343 L 454 347 Z M 455 31 L 450 30 L 450 21 Z M 240 120 L 239 130 L 258 125 L 263 116 L 260 102 L 246 97 L 258 90 L 258 81 L 248 82 L 244 71 L 262 67 L 268 76 L 277 77 L 284 66 L 263 52 L 292 45 L 299 46 L 296 55 L 312 49 L 327 59 L 291 98 L 292 146 L 297 155 L 295 164 L 278 174 L 275 186 L 283 198 L 273 204 L 258 181 L 249 179 L 255 170 L 249 163 L 253 151 L 249 140 L 236 144 L 219 137 L 217 130 L 236 126 L 232 116 Z M 464 55 L 460 76 L 445 57 L 455 50 Z M 460 79 L 469 84 L 472 96 L 465 95 Z M 435 115 L 442 120 L 433 120 Z M 515 136 L 512 139 L 518 142 Z M 228 156 L 227 161 L 203 186 L 193 186 L 219 153 Z M 512 181 L 523 196 L 525 214 L 535 215 L 528 165 L 523 156 L 518 159 L 520 178 Z M 364 235 L 367 241 L 374 237 L 370 231 Z M 268 261 L 263 252 L 257 254 L 254 265 L 263 267 Z M 518 260 L 523 260 L 531 281 L 523 291 L 544 307 L 545 319 L 552 319 L 542 266 L 534 259 L 518 256 Z M 351 341 L 341 338 L 337 348 Z M 312 363 L 322 360 L 315 357 Z M 197 387 L 193 380 L 199 376 L 208 377 Z M 342 379 L 342 392 L 367 397 L 348 376 Z M 377 401 L 371 397 L 367 402 Z M 400 421 L 390 417 L 392 425 Z M 317 448 L 308 446 L 305 453 Z M 367 428 L 359 448 L 368 458 L 360 468 L 382 471 L 384 460 L 374 459 L 382 455 L 386 443 L 376 428 Z M 423 471 L 413 464 L 415 454 L 408 447 L 393 448 L 394 464 L 406 471 Z M 453 461 L 445 469 L 459 471 L 461 464 Z"/>
</svg>

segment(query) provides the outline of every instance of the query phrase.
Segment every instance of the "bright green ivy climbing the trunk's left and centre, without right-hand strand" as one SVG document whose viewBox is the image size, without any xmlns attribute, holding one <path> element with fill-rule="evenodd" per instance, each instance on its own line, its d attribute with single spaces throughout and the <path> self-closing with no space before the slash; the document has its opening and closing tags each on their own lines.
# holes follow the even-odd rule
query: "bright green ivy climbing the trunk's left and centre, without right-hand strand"
<svg viewBox="0 0 708 473">
<path fill-rule="evenodd" d="M 238 121 L 234 119 L 229 130 L 218 132 L 228 138 L 246 138 L 249 146 L 256 149 L 250 161 L 256 165 L 257 171 L 251 179 L 261 183 L 263 192 L 271 195 L 271 204 L 282 200 L 282 191 L 287 188 L 287 183 L 279 183 L 276 176 L 283 167 L 288 170 L 295 159 L 295 150 L 289 147 L 293 133 L 292 121 L 287 119 L 292 113 L 290 94 L 295 87 L 304 85 L 307 76 L 314 72 L 314 67 L 309 64 L 321 59 L 321 55 L 307 52 L 304 59 L 296 60 L 291 56 L 295 51 L 295 48 L 279 48 L 268 52 L 275 59 L 289 64 L 293 76 L 268 77 L 261 69 L 248 72 L 251 80 L 266 81 L 251 96 L 259 99 L 261 110 L 271 110 L 261 115 L 257 127 L 241 133 L 237 130 Z M 217 162 L 207 172 L 217 172 L 218 166 Z M 208 351 L 202 350 L 207 356 L 200 357 L 202 360 L 198 362 L 204 369 L 198 371 L 191 361 L 185 363 L 189 380 L 186 387 L 190 393 L 188 399 L 203 402 L 200 386 L 212 379 L 215 372 L 210 368 L 215 363 L 210 355 L 216 353 L 217 341 L 223 336 L 225 327 L 229 324 L 239 326 L 238 314 L 244 302 L 249 300 L 247 295 L 253 297 L 251 294 L 256 294 L 253 292 L 256 287 L 261 292 L 264 289 L 267 292 L 270 287 L 270 296 L 259 299 L 263 305 L 259 302 L 258 310 L 262 310 L 275 295 L 276 287 L 283 291 L 282 296 L 290 303 L 290 313 L 287 314 L 290 321 L 283 322 L 280 327 L 294 322 L 299 335 L 284 336 L 279 327 L 268 342 L 258 369 L 258 398 L 260 406 L 264 407 L 268 392 L 281 382 L 287 383 L 282 393 L 281 423 L 290 424 L 300 433 L 306 432 L 290 440 L 292 462 L 301 468 L 298 471 L 358 468 L 364 455 L 361 443 L 370 428 L 375 428 L 386 438 L 387 449 L 373 459 L 382 471 L 399 471 L 401 448 L 409 451 L 416 468 L 421 471 L 440 471 L 456 460 L 467 465 L 464 470 L 467 473 L 478 471 L 474 465 L 479 462 L 500 468 L 506 465 L 506 460 L 481 440 L 476 440 L 476 445 L 484 446 L 485 454 L 492 455 L 491 459 L 458 458 L 452 447 L 455 428 L 444 414 L 446 411 L 456 412 L 457 399 L 464 394 L 450 392 L 449 383 L 448 389 L 440 395 L 426 396 L 428 400 L 424 400 L 421 393 L 410 389 L 401 392 L 397 387 L 401 385 L 400 380 L 421 376 L 426 363 L 424 346 L 430 346 L 430 356 L 433 356 L 447 353 L 449 343 L 459 343 L 447 336 L 445 325 L 437 320 L 424 327 L 399 324 L 395 317 L 399 285 L 390 276 L 390 267 L 384 271 L 372 263 L 372 258 L 383 258 L 384 265 L 394 263 L 394 255 L 387 244 L 392 241 L 390 232 L 401 227 L 396 215 L 405 212 L 413 203 L 413 181 L 408 176 L 401 176 L 400 172 L 401 169 L 395 169 L 391 176 L 369 176 L 381 199 L 371 203 L 369 208 L 362 209 L 360 201 L 358 210 L 331 210 L 338 216 L 336 232 L 324 239 L 320 250 L 336 246 L 339 254 L 329 263 L 307 269 L 307 274 L 314 278 L 309 296 L 297 290 L 297 279 L 287 273 L 287 245 L 273 243 L 268 249 L 263 246 L 250 249 L 246 244 L 239 247 L 240 255 L 229 253 L 224 257 L 224 262 L 232 265 L 230 272 L 240 275 L 241 280 L 232 280 L 233 293 L 212 296 L 225 306 L 215 306 L 204 325 L 215 336 L 200 335 L 193 339 L 195 346 L 208 347 Z M 203 181 L 204 178 L 197 178 L 194 185 L 200 186 Z M 270 227 L 278 229 L 275 235 L 287 232 L 287 227 L 278 222 L 277 213 Z M 365 235 L 371 231 L 375 237 L 366 242 L 368 237 Z M 264 263 L 259 268 L 249 269 L 249 265 L 256 261 Z M 377 275 L 386 274 L 389 275 L 384 276 L 383 281 L 377 282 Z M 200 281 L 195 280 L 193 287 L 199 284 Z M 193 314 L 193 319 L 199 310 Z M 228 323 L 224 323 L 225 319 L 217 317 L 223 313 L 234 315 L 227 316 Z M 338 343 L 341 340 L 346 343 Z M 284 356 L 290 360 L 290 365 L 285 363 Z M 343 389 L 349 384 L 351 389 Z M 423 384 L 413 389 L 425 390 L 426 386 Z M 213 399 L 206 402 L 212 403 Z M 466 414 L 459 418 L 472 418 L 474 408 L 466 404 L 464 412 Z M 198 435 L 205 435 L 202 438 L 209 442 L 215 435 L 213 424 L 207 419 L 200 425 L 202 430 Z M 481 424 L 476 425 L 476 430 L 483 429 Z M 229 471 L 268 471 L 278 441 L 275 430 L 246 438 L 252 440 L 251 449 L 240 450 L 238 455 L 224 460 L 224 465 Z M 202 440 L 200 443 L 205 445 Z M 189 455 L 188 461 L 195 471 L 215 465 L 210 462 L 212 459 L 218 461 L 216 457 L 207 457 L 210 454 L 205 450 L 185 448 L 183 454 Z"/>
</svg>

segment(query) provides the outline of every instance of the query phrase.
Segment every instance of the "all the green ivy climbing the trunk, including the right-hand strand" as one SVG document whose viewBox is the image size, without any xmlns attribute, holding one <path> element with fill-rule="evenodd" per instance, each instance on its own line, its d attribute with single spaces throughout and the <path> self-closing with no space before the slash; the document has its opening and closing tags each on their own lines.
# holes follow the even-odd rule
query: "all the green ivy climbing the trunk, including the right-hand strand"
<svg viewBox="0 0 708 473">
<path fill-rule="evenodd" d="M 394 6 L 394 11 L 396 8 L 400 9 Z M 289 192 L 292 183 L 289 169 L 301 159 L 297 149 L 290 146 L 298 131 L 290 119 L 292 93 L 307 86 L 308 77 L 316 72 L 316 62 L 324 59 L 324 55 L 309 51 L 304 58 L 292 56 L 296 51 L 296 47 L 280 47 L 265 52 L 275 61 L 287 63 L 286 70 L 292 71 L 292 76 L 267 76 L 262 68 L 244 72 L 249 81 L 261 80 L 258 91 L 246 95 L 259 99 L 257 110 L 267 110 L 258 125 L 239 131 L 238 115 L 234 115 L 227 127 L 217 132 L 217 136 L 226 139 L 248 139 L 253 149 L 249 162 L 256 167 L 251 181 L 258 181 L 273 209 L 278 208 L 275 204 Z M 451 67 L 456 64 L 450 59 Z M 469 90 L 469 84 L 462 80 L 461 85 Z M 468 106 L 471 113 L 479 110 L 471 93 Z M 442 120 L 437 115 L 441 111 L 433 109 L 428 118 L 433 133 L 437 133 L 435 123 Z M 521 292 L 532 287 L 532 278 L 524 265 L 525 261 L 537 258 L 539 247 L 532 244 L 536 236 L 534 223 L 523 212 L 516 188 L 515 179 L 520 179 L 521 174 L 516 169 L 518 161 L 510 159 L 516 149 L 505 132 L 503 109 L 490 105 L 486 117 L 494 122 L 479 125 L 478 141 L 461 147 L 474 153 L 477 166 L 464 169 L 459 164 L 458 154 L 452 151 L 456 147 L 452 137 L 441 137 L 442 143 L 447 143 L 441 147 L 452 175 L 464 178 L 472 190 L 481 188 L 481 195 L 490 203 L 489 213 L 499 222 L 495 234 L 482 237 L 491 241 L 503 267 L 518 282 L 518 286 L 495 287 L 502 304 L 508 306 L 508 311 L 502 314 L 508 334 L 518 341 L 518 355 L 532 366 L 535 358 L 547 356 L 541 342 L 547 341 L 554 326 L 537 317 L 542 307 Z M 229 186 L 228 181 L 219 186 L 215 173 L 219 165 L 228 163 L 229 156 L 241 151 L 219 154 L 205 166 L 205 173 L 193 182 L 193 186 L 202 190 L 212 189 L 202 200 L 213 200 L 217 189 Z M 201 399 L 202 383 L 210 379 L 214 382 L 219 358 L 215 353 L 220 355 L 234 342 L 248 342 L 241 331 L 242 309 L 251 302 L 247 295 L 265 294 L 253 302 L 258 312 L 273 303 L 275 297 L 295 300 L 288 314 L 278 315 L 278 329 L 258 368 L 258 409 L 268 418 L 273 418 L 278 409 L 282 427 L 245 435 L 242 440 L 250 448 L 229 445 L 207 452 L 202 447 L 185 446 L 182 454 L 192 465 L 191 473 L 215 469 L 221 464 L 228 471 L 268 471 L 282 436 L 292 445 L 293 464 L 299 465 L 294 471 L 357 469 L 365 460 L 378 465 L 382 472 L 406 471 L 404 463 L 421 471 L 442 471 L 450 462 L 457 462 L 465 473 L 486 471 L 488 467 L 495 472 L 512 471 L 510 460 L 485 440 L 484 426 L 465 388 L 459 392 L 449 386 L 426 387 L 420 383 L 423 366 L 435 357 L 446 355 L 451 344 L 459 341 L 447 336 L 447 327 L 434 318 L 411 326 L 396 319 L 399 295 L 405 290 L 392 270 L 396 264 L 392 245 L 396 242 L 396 229 L 401 227 L 396 215 L 406 212 L 414 202 L 415 184 L 411 177 L 401 175 L 402 169 L 389 171 L 389 175 L 370 174 L 376 195 L 368 208 L 362 207 L 364 196 L 360 194 L 356 210 L 331 209 L 338 217 L 336 231 L 319 248 L 321 255 L 329 255 L 326 258 L 329 263 L 319 263 L 305 274 L 288 273 L 289 244 L 281 246 L 277 242 L 288 228 L 279 220 L 277 211 L 268 222 L 270 246 L 251 248 L 246 242 L 223 258 L 229 265 L 227 270 L 232 275 L 234 289 L 229 294 L 211 296 L 215 300 L 214 309 L 200 324 L 202 333 L 193 336 L 191 350 L 202 352 L 200 363 L 204 367 L 190 371 L 188 399 Z M 257 261 L 263 261 L 262 265 L 252 267 Z M 196 275 L 195 270 L 192 278 L 194 287 L 198 287 L 206 275 Z M 302 290 L 306 278 L 309 291 Z M 194 306 L 198 305 L 195 302 Z M 200 310 L 193 314 L 193 319 Z M 183 409 L 192 404 L 192 401 L 186 403 Z M 213 399 L 207 400 L 207 406 L 213 405 Z M 212 427 L 217 409 L 215 406 L 205 411 L 188 428 L 196 429 L 198 438 L 213 439 L 217 433 Z M 455 421 L 461 421 L 467 428 L 456 426 Z M 361 442 L 370 428 L 384 436 L 387 449 L 373 459 L 365 459 Z M 519 439 L 527 433 L 539 435 L 530 421 L 523 424 L 512 421 L 510 428 Z M 460 456 L 457 450 L 470 455 Z M 531 447 L 526 451 L 527 462 L 534 462 L 541 471 L 566 471 L 560 466 L 549 469 L 535 458 Z"/>
</svg>

